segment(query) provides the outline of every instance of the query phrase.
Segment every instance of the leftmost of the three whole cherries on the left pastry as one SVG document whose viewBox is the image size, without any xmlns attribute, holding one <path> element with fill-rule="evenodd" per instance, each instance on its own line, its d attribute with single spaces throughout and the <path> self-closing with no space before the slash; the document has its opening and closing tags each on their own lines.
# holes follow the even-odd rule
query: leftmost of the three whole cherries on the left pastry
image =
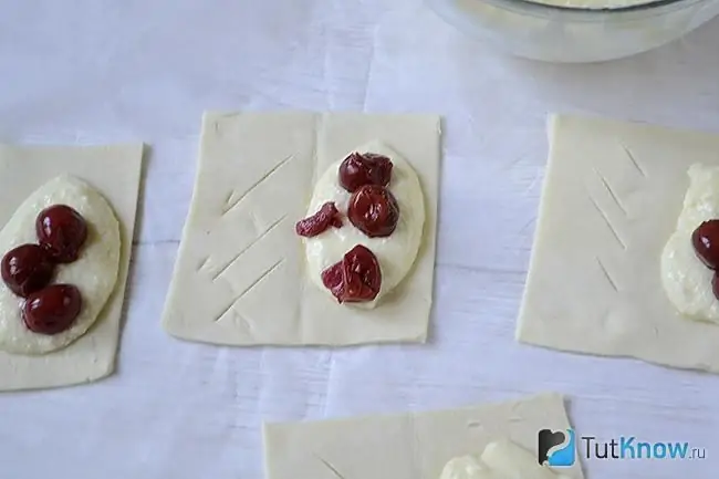
<svg viewBox="0 0 719 479">
<path fill-rule="evenodd" d="M 54 264 L 48 251 L 38 244 L 21 244 L 2 257 L 0 272 L 10 291 L 27 298 L 46 287 Z"/>
</svg>

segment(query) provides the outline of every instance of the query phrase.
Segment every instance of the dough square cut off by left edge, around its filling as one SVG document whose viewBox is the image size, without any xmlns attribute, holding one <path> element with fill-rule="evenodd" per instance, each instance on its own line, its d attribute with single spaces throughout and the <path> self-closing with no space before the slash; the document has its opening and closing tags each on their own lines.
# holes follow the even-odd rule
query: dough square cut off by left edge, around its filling
<svg viewBox="0 0 719 479">
<path fill-rule="evenodd" d="M 69 174 L 86 181 L 105 197 L 119 221 L 122 238 L 119 273 L 115 290 L 95 324 L 77 341 L 53 353 L 28 356 L 0 351 L 0 391 L 90 383 L 114 371 L 135 228 L 142 158 L 142 144 L 0 145 L 0 225 L 4 225 L 20 204 L 40 186 Z"/>
</svg>

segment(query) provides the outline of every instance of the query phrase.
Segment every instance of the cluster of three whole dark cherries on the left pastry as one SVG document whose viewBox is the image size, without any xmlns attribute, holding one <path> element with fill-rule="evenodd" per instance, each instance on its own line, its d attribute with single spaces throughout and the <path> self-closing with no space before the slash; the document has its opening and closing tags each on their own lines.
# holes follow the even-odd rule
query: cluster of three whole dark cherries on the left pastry
<svg viewBox="0 0 719 479">
<path fill-rule="evenodd" d="M 28 329 L 58 334 L 80 314 L 82 298 L 72 284 L 50 283 L 58 264 L 77 260 L 87 225 L 73 208 L 53 205 L 38 215 L 35 235 L 38 243 L 21 244 L 2 257 L 0 273 L 10 291 L 24 298 L 21 314 Z"/>
</svg>

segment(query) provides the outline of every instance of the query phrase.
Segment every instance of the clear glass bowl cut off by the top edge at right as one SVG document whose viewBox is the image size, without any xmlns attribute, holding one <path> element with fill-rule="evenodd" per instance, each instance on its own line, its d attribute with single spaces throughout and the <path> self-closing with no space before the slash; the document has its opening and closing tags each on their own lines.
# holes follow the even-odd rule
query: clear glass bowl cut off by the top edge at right
<svg viewBox="0 0 719 479">
<path fill-rule="evenodd" d="M 605 10 L 529 0 L 426 0 L 441 18 L 496 49 L 532 60 L 586 63 L 646 52 L 719 13 L 719 0 L 659 0 Z"/>
</svg>

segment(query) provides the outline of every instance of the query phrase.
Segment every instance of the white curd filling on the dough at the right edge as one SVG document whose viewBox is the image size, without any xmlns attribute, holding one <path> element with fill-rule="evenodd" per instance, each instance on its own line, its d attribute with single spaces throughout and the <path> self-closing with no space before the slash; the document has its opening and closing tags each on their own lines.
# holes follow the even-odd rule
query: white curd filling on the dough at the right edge
<svg viewBox="0 0 719 479">
<path fill-rule="evenodd" d="M 692 165 L 689 188 L 677 229 L 661 252 L 661 283 L 669 301 L 684 316 L 719 322 L 719 301 L 711 289 L 713 271 L 694 250 L 691 233 L 709 219 L 719 219 L 719 167 Z"/>
</svg>

